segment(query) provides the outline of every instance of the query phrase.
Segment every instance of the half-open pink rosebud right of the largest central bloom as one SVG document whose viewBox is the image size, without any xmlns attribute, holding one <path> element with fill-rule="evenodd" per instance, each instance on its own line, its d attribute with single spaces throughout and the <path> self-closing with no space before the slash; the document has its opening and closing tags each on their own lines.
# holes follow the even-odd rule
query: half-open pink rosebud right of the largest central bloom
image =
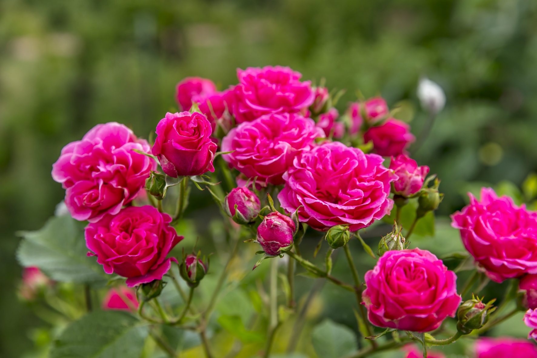
<svg viewBox="0 0 537 358">
<path fill-rule="evenodd" d="M 422 189 L 425 177 L 429 173 L 429 167 L 418 167 L 415 160 L 404 154 L 391 157 L 390 169 L 399 177 L 394 182 L 395 194 L 404 197 L 416 194 Z"/>
</svg>

